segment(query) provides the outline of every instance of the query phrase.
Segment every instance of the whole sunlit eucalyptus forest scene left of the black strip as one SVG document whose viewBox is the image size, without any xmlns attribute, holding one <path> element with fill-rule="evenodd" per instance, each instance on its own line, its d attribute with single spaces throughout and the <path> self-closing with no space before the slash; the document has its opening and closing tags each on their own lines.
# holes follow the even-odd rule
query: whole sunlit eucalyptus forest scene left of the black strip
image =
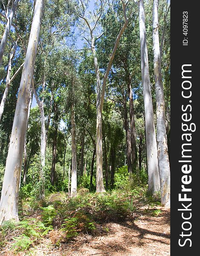
<svg viewBox="0 0 200 256">
<path fill-rule="evenodd" d="M 170 255 L 169 152 L 169 0 L 0 1 L 0 255 Z"/>
</svg>

